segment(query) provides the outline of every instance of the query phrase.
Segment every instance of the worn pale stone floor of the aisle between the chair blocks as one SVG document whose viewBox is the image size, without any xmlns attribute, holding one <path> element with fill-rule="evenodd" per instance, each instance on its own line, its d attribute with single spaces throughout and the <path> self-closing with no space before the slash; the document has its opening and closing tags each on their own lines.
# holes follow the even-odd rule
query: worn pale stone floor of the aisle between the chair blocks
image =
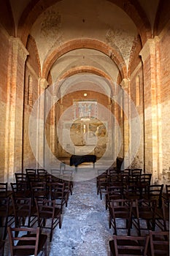
<svg viewBox="0 0 170 256">
<path fill-rule="evenodd" d="M 62 227 L 53 233 L 50 256 L 110 255 L 109 214 L 96 191 L 96 178 L 74 182 L 68 206 L 63 208 Z"/>
</svg>

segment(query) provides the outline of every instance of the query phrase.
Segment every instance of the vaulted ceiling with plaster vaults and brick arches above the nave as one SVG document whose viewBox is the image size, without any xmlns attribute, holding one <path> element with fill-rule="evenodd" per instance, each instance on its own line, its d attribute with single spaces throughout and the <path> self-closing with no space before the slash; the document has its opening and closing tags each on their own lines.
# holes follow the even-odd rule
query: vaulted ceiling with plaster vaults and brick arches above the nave
<svg viewBox="0 0 170 256">
<path fill-rule="evenodd" d="M 53 82 L 81 67 L 125 77 L 136 37 L 152 37 L 158 2 L 10 0 L 16 36 L 34 38 L 42 76 Z"/>
</svg>

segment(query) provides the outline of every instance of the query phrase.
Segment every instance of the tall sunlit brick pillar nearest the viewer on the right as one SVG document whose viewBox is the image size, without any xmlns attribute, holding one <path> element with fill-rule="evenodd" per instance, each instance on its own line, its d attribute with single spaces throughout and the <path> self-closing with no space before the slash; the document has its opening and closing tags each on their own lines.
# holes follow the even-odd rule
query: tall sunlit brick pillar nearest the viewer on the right
<svg viewBox="0 0 170 256">
<path fill-rule="evenodd" d="M 160 69 L 158 37 L 148 39 L 142 48 L 144 72 L 144 140 L 145 140 L 145 170 L 152 173 L 152 182 L 160 182 L 161 138 L 158 136 L 160 112 Z"/>
</svg>

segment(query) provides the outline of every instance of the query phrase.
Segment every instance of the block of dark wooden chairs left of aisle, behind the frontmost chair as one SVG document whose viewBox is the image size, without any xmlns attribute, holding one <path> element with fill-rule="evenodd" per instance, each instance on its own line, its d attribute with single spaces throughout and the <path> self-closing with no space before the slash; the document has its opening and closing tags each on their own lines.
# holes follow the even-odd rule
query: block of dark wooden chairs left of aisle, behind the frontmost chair
<svg viewBox="0 0 170 256">
<path fill-rule="evenodd" d="M 32 170 L 28 170 L 28 173 L 29 171 Z M 43 172 L 43 175 L 47 176 L 46 181 L 36 179 L 39 175 L 37 170 L 31 180 L 28 178 L 28 173 L 15 173 L 16 182 L 10 184 L 12 191 L 7 183 L 0 184 L 0 226 L 4 227 L 3 239 L 7 236 L 7 226 L 13 223 L 15 227 L 25 225 L 31 227 L 37 223 L 46 228 L 45 219 L 51 219 L 50 241 L 54 227 L 56 225 L 61 227 L 63 206 L 67 206 L 69 195 L 72 194 L 70 173 L 66 172 L 68 180 L 65 180 L 63 176 L 58 178 L 58 175 L 53 176 L 45 170 Z M 42 208 L 42 205 L 48 207 Z M 45 210 L 46 218 L 43 217 Z"/>
</svg>

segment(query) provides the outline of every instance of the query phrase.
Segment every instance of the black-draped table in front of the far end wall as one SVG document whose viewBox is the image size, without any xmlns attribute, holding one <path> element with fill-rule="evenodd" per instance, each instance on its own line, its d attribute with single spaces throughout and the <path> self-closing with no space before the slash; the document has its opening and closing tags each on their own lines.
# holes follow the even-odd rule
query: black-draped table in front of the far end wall
<svg viewBox="0 0 170 256">
<path fill-rule="evenodd" d="M 72 155 L 70 157 L 70 165 L 77 165 L 82 164 L 82 162 L 93 162 L 93 164 L 96 162 L 96 156 L 94 154 L 85 154 L 84 156 L 77 156 L 77 155 Z"/>
</svg>

